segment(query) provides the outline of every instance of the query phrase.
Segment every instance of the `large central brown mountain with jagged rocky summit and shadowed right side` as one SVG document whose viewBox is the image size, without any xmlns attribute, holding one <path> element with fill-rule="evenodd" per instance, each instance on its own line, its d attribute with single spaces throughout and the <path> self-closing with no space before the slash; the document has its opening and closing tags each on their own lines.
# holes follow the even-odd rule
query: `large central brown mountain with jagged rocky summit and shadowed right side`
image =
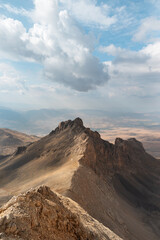
<svg viewBox="0 0 160 240">
<path fill-rule="evenodd" d="M 1 204 L 42 184 L 124 240 L 160 238 L 160 162 L 135 138 L 109 143 L 76 118 L 1 160 Z"/>
</svg>

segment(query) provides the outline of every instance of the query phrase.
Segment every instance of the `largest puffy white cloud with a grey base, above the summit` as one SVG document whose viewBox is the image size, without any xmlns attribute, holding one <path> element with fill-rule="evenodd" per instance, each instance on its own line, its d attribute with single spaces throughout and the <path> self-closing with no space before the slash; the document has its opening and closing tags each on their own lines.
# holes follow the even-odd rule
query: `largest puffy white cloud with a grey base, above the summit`
<svg viewBox="0 0 160 240">
<path fill-rule="evenodd" d="M 35 0 L 27 31 L 11 18 L 0 19 L 1 56 L 35 61 L 44 77 L 77 91 L 88 91 L 108 81 L 104 64 L 93 56 L 94 40 L 85 34 L 56 0 Z"/>
</svg>

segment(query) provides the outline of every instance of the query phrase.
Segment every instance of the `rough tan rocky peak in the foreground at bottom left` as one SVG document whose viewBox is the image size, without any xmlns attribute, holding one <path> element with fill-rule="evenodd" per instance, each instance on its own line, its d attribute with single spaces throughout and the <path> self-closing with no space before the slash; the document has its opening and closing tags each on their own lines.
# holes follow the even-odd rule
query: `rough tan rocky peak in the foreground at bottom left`
<svg viewBox="0 0 160 240">
<path fill-rule="evenodd" d="M 42 186 L 0 209 L 0 239 L 120 240 L 77 203 Z"/>
</svg>

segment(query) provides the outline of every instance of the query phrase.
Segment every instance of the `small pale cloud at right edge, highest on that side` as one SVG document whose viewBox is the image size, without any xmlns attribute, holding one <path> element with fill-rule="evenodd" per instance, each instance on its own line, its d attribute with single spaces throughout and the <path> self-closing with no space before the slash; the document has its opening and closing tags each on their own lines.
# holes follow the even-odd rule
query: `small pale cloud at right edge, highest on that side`
<svg viewBox="0 0 160 240">
<path fill-rule="evenodd" d="M 160 20 L 155 17 L 149 17 L 142 20 L 140 27 L 133 36 L 134 41 L 153 42 L 159 40 Z"/>
</svg>

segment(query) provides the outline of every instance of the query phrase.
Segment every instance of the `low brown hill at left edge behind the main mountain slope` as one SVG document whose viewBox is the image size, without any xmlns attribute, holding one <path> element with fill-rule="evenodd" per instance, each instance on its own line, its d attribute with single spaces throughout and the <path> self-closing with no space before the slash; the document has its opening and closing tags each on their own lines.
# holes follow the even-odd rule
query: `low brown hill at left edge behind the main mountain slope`
<svg viewBox="0 0 160 240">
<path fill-rule="evenodd" d="M 0 155 L 12 154 L 17 147 L 28 145 L 38 139 L 36 136 L 0 128 Z"/>
</svg>

